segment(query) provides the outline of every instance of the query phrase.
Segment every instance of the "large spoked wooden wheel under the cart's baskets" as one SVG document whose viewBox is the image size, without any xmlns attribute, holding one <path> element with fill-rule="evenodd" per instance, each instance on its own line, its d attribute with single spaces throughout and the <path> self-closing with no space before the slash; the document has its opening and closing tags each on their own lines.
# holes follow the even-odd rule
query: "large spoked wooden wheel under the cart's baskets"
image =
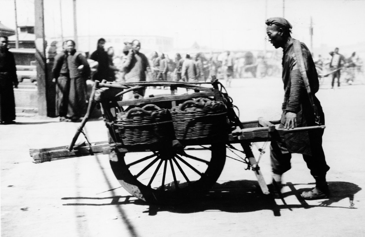
<svg viewBox="0 0 365 237">
<path fill-rule="evenodd" d="M 226 144 L 216 143 L 119 153 L 118 161 L 110 164 L 130 194 L 150 203 L 171 204 L 194 199 L 211 188 L 225 161 Z"/>
</svg>

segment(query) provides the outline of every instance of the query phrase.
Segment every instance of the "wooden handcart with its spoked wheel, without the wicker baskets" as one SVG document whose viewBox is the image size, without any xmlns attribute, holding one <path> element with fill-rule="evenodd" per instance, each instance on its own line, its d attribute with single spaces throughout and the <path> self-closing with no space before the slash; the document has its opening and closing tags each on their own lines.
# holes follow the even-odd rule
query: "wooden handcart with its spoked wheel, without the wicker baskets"
<svg viewBox="0 0 365 237">
<path fill-rule="evenodd" d="M 201 84 L 211 84 L 203 87 Z M 165 86 L 170 94 L 140 98 L 138 91 L 149 86 Z M 176 94 L 177 88 L 193 90 L 190 94 Z M 127 92 L 134 92 L 135 98 L 121 100 Z M 116 114 L 123 108 L 141 107 L 157 104 L 161 108 L 173 108 L 193 98 L 206 97 L 223 101 L 227 106 L 227 136 L 210 139 L 173 140 L 170 143 L 126 146 L 120 143 L 118 131 L 114 127 Z M 109 141 L 75 145 L 88 121 L 92 110 L 100 105 L 105 124 L 108 128 Z M 233 101 L 224 86 L 213 78 L 209 83 L 189 82 L 136 82 L 136 83 L 101 83 L 96 81 L 90 96 L 87 114 L 77 129 L 68 147 L 31 149 L 34 163 L 59 160 L 78 156 L 109 154 L 110 164 L 119 183 L 132 195 L 151 203 L 177 203 L 191 200 L 212 187 L 219 178 L 226 160 L 226 148 L 244 156 L 246 169 L 254 171 L 263 194 L 269 194 L 268 187 L 261 174 L 258 162 L 251 151 L 254 142 L 280 139 L 285 133 L 324 129 L 324 126 L 279 129 L 275 124 L 280 121 L 241 122 L 235 112 Z M 85 134 L 84 134 L 85 135 Z M 237 145 L 239 146 L 237 146 Z M 262 152 L 262 151 L 261 151 Z M 240 155 L 240 156 L 241 156 Z"/>
</svg>

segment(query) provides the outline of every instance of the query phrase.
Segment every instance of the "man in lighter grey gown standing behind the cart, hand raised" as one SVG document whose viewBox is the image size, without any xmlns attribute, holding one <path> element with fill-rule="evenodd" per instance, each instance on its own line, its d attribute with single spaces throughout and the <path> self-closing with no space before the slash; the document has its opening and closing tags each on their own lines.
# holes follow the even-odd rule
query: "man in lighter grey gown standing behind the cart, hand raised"
<svg viewBox="0 0 365 237">
<path fill-rule="evenodd" d="M 150 72 L 150 64 L 146 55 L 139 52 L 141 42 L 135 39 L 132 41 L 131 49 L 123 62 L 124 78 L 126 82 L 146 81 L 146 72 Z M 145 96 L 145 90 L 138 90 L 139 96 Z"/>
</svg>

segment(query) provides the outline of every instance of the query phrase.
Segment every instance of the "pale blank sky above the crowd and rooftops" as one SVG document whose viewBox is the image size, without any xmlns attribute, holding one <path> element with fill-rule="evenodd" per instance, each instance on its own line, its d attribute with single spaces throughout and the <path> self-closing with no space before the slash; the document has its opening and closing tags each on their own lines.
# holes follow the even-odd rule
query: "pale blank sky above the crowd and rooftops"
<svg viewBox="0 0 365 237">
<path fill-rule="evenodd" d="M 281 16 L 293 38 L 310 46 L 365 43 L 364 0 L 76 0 L 78 35 L 162 35 L 184 48 L 253 50 L 265 41 L 265 19 Z M 34 21 L 34 0 L 16 0 L 18 23 Z M 44 0 L 47 37 L 73 36 L 72 0 Z M 284 9 L 283 9 L 284 7 Z M 284 10 L 284 11 L 283 11 Z M 0 0 L 0 21 L 15 28 L 14 0 Z M 265 46 L 266 44 L 266 46 Z M 142 46 L 143 47 L 143 46 Z"/>
</svg>

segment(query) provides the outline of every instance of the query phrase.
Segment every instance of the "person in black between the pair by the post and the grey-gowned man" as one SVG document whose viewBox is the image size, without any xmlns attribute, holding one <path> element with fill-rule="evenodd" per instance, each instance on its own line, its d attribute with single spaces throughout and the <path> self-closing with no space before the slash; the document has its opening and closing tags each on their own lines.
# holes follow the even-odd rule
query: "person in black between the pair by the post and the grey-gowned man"
<svg viewBox="0 0 365 237">
<path fill-rule="evenodd" d="M 96 50 L 91 54 L 90 59 L 99 63 L 97 71 L 93 76 L 93 80 L 103 81 L 104 79 L 110 81 L 109 78 L 109 57 L 108 53 L 104 49 L 105 39 L 100 38 L 97 40 Z"/>
</svg>

